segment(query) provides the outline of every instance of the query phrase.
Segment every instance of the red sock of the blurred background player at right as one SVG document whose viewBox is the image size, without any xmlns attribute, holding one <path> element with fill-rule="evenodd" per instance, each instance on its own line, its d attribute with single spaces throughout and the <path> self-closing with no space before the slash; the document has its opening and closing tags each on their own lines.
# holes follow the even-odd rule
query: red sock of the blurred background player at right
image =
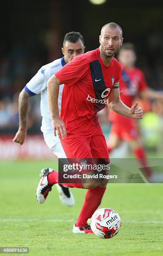
<svg viewBox="0 0 163 256">
<path fill-rule="evenodd" d="M 152 171 L 150 167 L 147 167 L 147 159 L 146 159 L 146 154 L 144 151 L 144 148 L 135 148 L 133 149 L 133 154 L 136 156 L 136 158 L 139 159 L 141 166 L 144 168 L 144 172 L 147 177 L 150 177 L 152 174 Z"/>
</svg>

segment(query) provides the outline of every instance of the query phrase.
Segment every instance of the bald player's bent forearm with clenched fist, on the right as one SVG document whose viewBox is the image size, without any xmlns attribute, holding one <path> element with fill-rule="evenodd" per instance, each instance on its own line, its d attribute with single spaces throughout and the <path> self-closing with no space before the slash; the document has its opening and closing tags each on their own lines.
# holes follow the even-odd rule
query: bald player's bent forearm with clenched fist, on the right
<svg viewBox="0 0 163 256">
<path fill-rule="evenodd" d="M 138 102 L 136 102 L 131 108 L 128 108 L 121 100 L 119 89 L 113 89 L 112 93 L 108 97 L 108 106 L 111 110 L 119 115 L 123 115 L 125 117 L 134 118 L 134 119 L 142 119 L 143 111 L 138 106 Z"/>
</svg>

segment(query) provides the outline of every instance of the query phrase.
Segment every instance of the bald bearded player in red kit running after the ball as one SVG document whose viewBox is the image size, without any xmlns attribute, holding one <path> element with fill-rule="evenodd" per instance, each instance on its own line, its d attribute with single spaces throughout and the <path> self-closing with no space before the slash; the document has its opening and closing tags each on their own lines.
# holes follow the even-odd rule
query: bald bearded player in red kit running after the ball
<svg viewBox="0 0 163 256">
<path fill-rule="evenodd" d="M 75 57 L 48 80 L 48 99 L 54 134 L 60 136 L 67 158 L 106 159 L 108 149 L 97 113 L 108 102 L 116 113 L 130 118 L 143 118 L 142 110 L 135 103 L 128 108 L 119 97 L 121 78 L 120 63 L 114 58 L 123 43 L 122 29 L 108 23 L 101 29 L 100 47 Z M 61 112 L 58 112 L 58 90 L 64 83 Z M 58 172 L 49 170 L 43 179 L 48 181 L 48 191 L 58 183 Z M 40 181 L 43 183 L 42 179 Z M 63 183 L 62 183 L 63 184 Z M 88 189 L 80 215 L 73 226 L 73 233 L 93 233 L 87 225 L 100 205 L 107 181 L 94 183 L 64 183 L 67 187 Z M 44 189 L 45 190 L 45 189 Z"/>
</svg>

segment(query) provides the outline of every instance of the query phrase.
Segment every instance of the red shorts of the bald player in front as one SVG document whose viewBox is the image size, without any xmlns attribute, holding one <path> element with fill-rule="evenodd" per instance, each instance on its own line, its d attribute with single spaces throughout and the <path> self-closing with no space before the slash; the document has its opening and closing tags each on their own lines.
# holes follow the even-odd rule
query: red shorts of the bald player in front
<svg viewBox="0 0 163 256">
<path fill-rule="evenodd" d="M 106 166 L 106 164 L 110 163 L 106 140 L 101 128 L 96 129 L 96 132 L 93 133 L 91 137 L 87 138 L 76 137 L 68 134 L 64 139 L 61 138 L 61 144 L 68 158 L 69 164 L 91 164 L 92 166 L 94 166 L 94 164 L 96 166 L 97 164 L 104 164 L 104 166 Z M 93 173 L 90 173 L 91 171 L 93 171 Z M 96 172 L 96 169 L 88 168 L 82 169 L 81 172 L 78 171 L 78 174 L 96 174 Z M 104 170 L 104 174 L 106 173 L 107 171 Z M 89 180 L 89 182 L 97 181 L 99 182 L 97 179 Z M 79 182 L 81 182 L 81 177 L 74 181 L 74 183 Z"/>
</svg>

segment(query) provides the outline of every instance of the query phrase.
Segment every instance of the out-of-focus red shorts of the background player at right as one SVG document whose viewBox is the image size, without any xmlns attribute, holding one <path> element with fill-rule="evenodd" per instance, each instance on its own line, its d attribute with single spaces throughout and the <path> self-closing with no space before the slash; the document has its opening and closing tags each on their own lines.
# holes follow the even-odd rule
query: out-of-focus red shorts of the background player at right
<svg viewBox="0 0 163 256">
<path fill-rule="evenodd" d="M 131 118 L 125 118 L 122 121 L 114 121 L 111 124 L 110 134 L 115 133 L 118 138 L 123 140 L 133 140 L 140 136 L 137 121 Z"/>
</svg>

